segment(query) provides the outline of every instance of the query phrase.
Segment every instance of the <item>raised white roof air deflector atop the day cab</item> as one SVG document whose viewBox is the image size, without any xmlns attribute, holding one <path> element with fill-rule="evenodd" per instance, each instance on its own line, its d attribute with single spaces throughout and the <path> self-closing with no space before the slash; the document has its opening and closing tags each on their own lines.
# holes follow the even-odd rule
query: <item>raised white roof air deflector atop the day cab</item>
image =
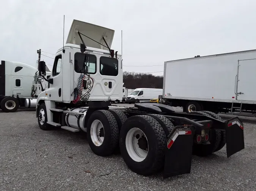
<svg viewBox="0 0 256 191">
<path fill-rule="evenodd" d="M 99 48 L 108 50 L 108 48 L 102 46 L 105 45 L 104 39 L 106 40 L 109 48 L 111 48 L 113 37 L 115 31 L 112 29 L 105 28 L 103 26 L 93 25 L 91 23 L 82 22 L 79 20 L 73 20 L 72 25 L 69 29 L 69 34 L 66 43 L 71 43 L 75 45 L 82 44 L 82 40 L 79 37 L 78 31 L 87 37 L 101 43 L 101 45 L 97 42 L 94 42 L 93 40 L 85 37 L 81 34 L 81 37 L 83 39 L 83 42 L 85 42 L 85 45 L 92 48 Z"/>
</svg>

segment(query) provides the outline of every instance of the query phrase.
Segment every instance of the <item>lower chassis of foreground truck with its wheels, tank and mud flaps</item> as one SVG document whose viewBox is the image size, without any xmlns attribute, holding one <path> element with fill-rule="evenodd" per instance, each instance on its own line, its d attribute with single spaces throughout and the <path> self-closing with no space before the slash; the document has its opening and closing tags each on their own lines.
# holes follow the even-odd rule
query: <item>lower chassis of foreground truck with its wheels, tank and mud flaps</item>
<svg viewBox="0 0 256 191">
<path fill-rule="evenodd" d="M 159 103 L 125 108 L 89 102 L 87 107 L 50 108 L 47 102 L 51 101 L 36 105 L 42 130 L 57 126 L 85 131 L 95 154 L 108 156 L 120 149 L 126 165 L 144 176 L 162 169 L 164 178 L 190 173 L 193 154 L 207 156 L 226 145 L 230 157 L 244 149 L 243 123 L 238 117 L 224 121 L 213 112 L 187 114 Z"/>
</svg>

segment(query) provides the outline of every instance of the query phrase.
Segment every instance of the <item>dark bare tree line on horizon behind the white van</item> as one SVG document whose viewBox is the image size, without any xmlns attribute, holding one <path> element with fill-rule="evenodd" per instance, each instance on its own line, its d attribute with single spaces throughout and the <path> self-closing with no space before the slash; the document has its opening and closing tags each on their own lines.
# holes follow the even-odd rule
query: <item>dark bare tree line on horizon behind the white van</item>
<svg viewBox="0 0 256 191">
<path fill-rule="evenodd" d="M 123 72 L 123 83 L 127 89 L 163 88 L 163 76 L 150 73 Z"/>
</svg>

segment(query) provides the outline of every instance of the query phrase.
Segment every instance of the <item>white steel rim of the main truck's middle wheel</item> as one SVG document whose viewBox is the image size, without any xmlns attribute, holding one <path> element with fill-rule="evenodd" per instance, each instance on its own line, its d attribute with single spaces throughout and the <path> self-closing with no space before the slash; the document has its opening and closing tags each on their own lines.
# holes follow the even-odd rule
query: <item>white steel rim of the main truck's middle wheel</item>
<svg viewBox="0 0 256 191">
<path fill-rule="evenodd" d="M 102 136 L 102 133 L 103 133 L 103 136 Z M 100 120 L 96 119 L 93 121 L 93 123 L 91 123 L 90 136 L 95 146 L 102 145 L 104 141 L 105 130 Z"/>
</svg>

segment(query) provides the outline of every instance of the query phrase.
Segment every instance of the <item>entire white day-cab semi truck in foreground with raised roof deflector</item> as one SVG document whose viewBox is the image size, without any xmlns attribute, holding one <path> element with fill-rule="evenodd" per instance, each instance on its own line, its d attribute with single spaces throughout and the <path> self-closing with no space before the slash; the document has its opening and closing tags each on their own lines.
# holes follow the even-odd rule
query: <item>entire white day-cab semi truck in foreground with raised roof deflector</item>
<svg viewBox="0 0 256 191">
<path fill-rule="evenodd" d="M 84 131 L 95 154 L 120 149 L 133 172 L 150 175 L 163 169 L 165 178 L 190 173 L 192 154 L 207 156 L 226 145 L 229 157 L 244 148 L 238 117 L 224 121 L 213 112 L 187 114 L 158 103 L 111 106 L 111 100 L 123 97 L 122 55 L 111 49 L 114 32 L 73 20 L 49 79 L 46 63 L 39 62 L 39 74 L 49 83 L 37 98 L 42 130 Z"/>
</svg>

